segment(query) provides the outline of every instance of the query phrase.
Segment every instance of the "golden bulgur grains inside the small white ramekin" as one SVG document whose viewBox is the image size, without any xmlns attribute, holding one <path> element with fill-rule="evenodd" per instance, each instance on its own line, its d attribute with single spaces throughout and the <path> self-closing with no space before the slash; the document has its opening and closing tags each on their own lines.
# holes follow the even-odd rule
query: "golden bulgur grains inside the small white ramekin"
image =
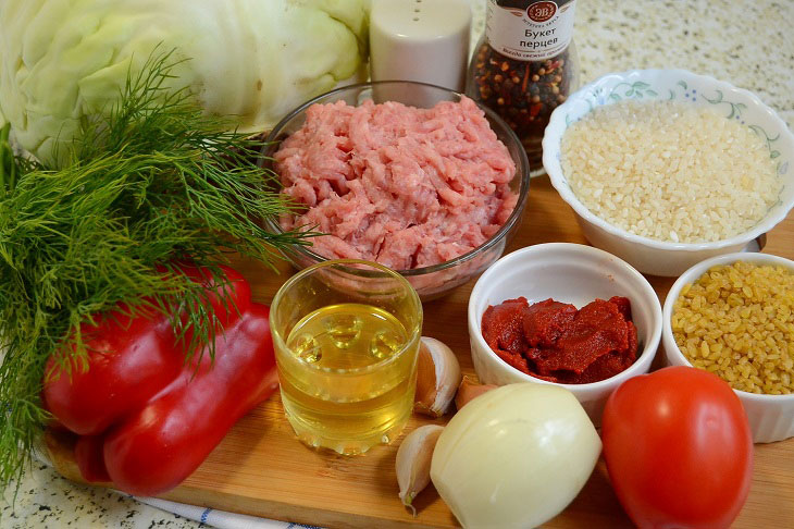
<svg viewBox="0 0 794 529">
<path fill-rule="evenodd" d="M 794 272 L 787 268 L 712 267 L 681 290 L 671 327 L 690 362 L 732 387 L 794 393 Z"/>
</svg>

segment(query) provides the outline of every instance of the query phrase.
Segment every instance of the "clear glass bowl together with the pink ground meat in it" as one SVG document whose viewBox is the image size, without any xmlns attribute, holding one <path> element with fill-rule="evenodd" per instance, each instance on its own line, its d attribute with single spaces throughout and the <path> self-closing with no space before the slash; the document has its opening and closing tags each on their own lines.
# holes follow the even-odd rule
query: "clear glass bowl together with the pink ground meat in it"
<svg viewBox="0 0 794 529">
<path fill-rule="evenodd" d="M 521 224 L 530 168 L 494 112 L 414 82 L 351 85 L 295 109 L 268 137 L 261 164 L 294 214 L 275 233 L 312 231 L 284 250 L 298 269 L 363 259 L 399 271 L 422 300 L 495 262 Z"/>
</svg>

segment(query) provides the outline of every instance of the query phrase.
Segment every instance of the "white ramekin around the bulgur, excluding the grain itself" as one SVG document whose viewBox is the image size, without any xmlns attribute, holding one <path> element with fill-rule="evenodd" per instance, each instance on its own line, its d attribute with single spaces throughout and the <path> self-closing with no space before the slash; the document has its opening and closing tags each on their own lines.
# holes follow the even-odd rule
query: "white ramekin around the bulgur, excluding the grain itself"
<svg viewBox="0 0 794 529">
<path fill-rule="evenodd" d="M 681 353 L 672 335 L 672 309 L 684 285 L 694 283 L 709 268 L 716 264 L 731 264 L 736 261 L 753 262 L 756 264 L 778 264 L 794 272 L 794 261 L 769 254 L 728 254 L 698 262 L 685 271 L 665 299 L 663 323 L 661 340 L 665 345 L 667 362 L 671 366 L 692 366 Z M 764 395 L 733 390 L 744 406 L 753 431 L 753 442 L 771 443 L 794 436 L 794 393 L 789 395 Z"/>
</svg>

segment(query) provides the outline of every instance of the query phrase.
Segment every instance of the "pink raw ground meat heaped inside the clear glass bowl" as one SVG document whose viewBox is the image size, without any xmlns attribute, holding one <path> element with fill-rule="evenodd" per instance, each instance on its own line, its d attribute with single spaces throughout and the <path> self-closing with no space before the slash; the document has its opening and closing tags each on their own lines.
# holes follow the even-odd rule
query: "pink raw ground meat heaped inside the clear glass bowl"
<svg viewBox="0 0 794 529">
<path fill-rule="evenodd" d="M 307 208 L 282 227 L 326 233 L 312 238 L 324 257 L 397 270 L 476 248 L 518 200 L 516 165 L 468 98 L 432 109 L 314 104 L 274 159 L 283 193 Z"/>
</svg>

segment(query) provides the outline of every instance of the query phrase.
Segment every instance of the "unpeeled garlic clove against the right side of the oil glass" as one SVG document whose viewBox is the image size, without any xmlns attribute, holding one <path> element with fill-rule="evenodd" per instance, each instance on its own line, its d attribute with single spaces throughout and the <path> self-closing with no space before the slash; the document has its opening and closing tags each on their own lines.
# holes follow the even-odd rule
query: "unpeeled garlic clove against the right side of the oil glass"
<svg viewBox="0 0 794 529">
<path fill-rule="evenodd" d="M 422 336 L 413 409 L 431 417 L 446 414 L 461 378 L 460 364 L 452 349 L 438 340 Z"/>
</svg>

